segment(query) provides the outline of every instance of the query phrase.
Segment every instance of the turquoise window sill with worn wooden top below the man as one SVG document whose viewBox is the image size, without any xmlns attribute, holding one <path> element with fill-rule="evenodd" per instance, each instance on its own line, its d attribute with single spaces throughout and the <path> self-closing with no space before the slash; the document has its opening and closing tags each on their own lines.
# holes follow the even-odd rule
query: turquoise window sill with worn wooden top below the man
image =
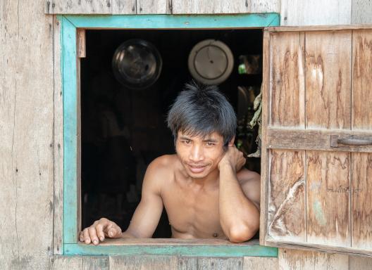
<svg viewBox="0 0 372 270">
<path fill-rule="evenodd" d="M 259 240 L 230 243 L 218 239 L 106 239 L 97 246 L 64 245 L 65 255 L 178 255 L 206 257 L 278 257 L 278 248 L 259 245 Z"/>
</svg>

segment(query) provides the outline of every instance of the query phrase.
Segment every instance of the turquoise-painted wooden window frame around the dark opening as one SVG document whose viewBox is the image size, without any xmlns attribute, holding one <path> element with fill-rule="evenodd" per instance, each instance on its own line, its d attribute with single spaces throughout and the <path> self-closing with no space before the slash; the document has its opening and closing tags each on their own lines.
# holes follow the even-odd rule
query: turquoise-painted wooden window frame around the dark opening
<svg viewBox="0 0 372 270">
<path fill-rule="evenodd" d="M 179 239 L 131 239 L 131 240 L 108 240 L 99 246 L 77 244 L 77 231 L 80 231 L 82 223 L 82 201 L 80 185 L 81 165 L 80 162 L 80 134 L 84 132 L 83 123 L 80 123 L 81 115 L 89 113 L 89 110 L 80 110 L 80 101 L 84 104 L 85 96 L 81 93 L 80 85 L 89 80 L 89 72 L 83 70 L 84 63 L 77 58 L 77 28 L 87 29 L 89 34 L 94 35 L 101 31 L 110 31 L 111 35 L 125 34 L 125 28 L 218 28 L 220 32 L 228 32 L 228 29 L 242 27 L 263 27 L 278 24 L 277 14 L 263 15 L 223 15 L 216 16 L 182 16 L 182 15 L 141 15 L 141 16 L 66 16 L 61 17 L 62 43 L 63 43 L 63 105 L 64 105 L 64 254 L 89 254 L 89 255 L 199 255 L 199 256 L 276 256 L 277 249 L 258 245 L 257 240 L 249 243 L 233 244 L 226 242 L 211 242 L 209 240 L 179 240 Z M 149 23 L 144 23 L 149 22 Z M 89 29 L 110 28 L 116 30 L 89 30 Z M 223 30 L 221 30 L 223 29 Z M 114 34 L 113 32 L 116 31 Z M 137 32 L 139 30 L 136 30 Z M 136 32 L 132 31 L 132 33 Z M 145 30 L 142 30 L 145 31 Z M 149 30 L 146 30 L 148 33 Z M 156 31 L 156 30 L 151 30 Z M 159 30 L 160 31 L 160 30 Z M 165 30 L 162 30 L 165 32 Z M 186 31 L 186 30 L 185 30 Z M 188 30 L 190 31 L 190 30 Z M 193 30 L 199 31 L 202 30 Z M 203 30 L 203 34 L 211 34 L 212 30 Z M 217 30 L 213 30 L 217 31 Z M 237 30 L 243 33 L 249 30 Z M 250 30 L 251 32 L 260 32 Z M 106 32 L 105 34 L 110 34 Z M 174 30 L 173 30 L 174 32 Z M 141 32 L 144 34 L 144 32 Z M 261 41 L 260 41 L 261 42 Z M 81 74 L 81 77 L 80 77 Z M 85 81 L 86 80 L 86 81 Z M 236 96 L 235 96 L 236 102 Z M 87 103 L 85 103 L 87 104 Z M 82 133 L 81 133 L 82 132 Z M 83 134 L 84 135 L 84 134 Z M 84 143 L 84 139 L 82 141 Z M 84 148 L 85 146 L 82 146 Z M 84 155 L 84 153 L 83 153 Z M 83 159 L 84 162 L 84 159 Z M 83 189 L 85 187 L 82 187 Z M 84 199 L 84 198 L 83 198 Z M 87 200 L 89 198 L 86 198 Z M 88 221 L 87 221 L 88 222 Z M 125 245 L 120 243 L 125 242 Z M 119 245 L 118 245 L 119 244 Z"/>
</svg>

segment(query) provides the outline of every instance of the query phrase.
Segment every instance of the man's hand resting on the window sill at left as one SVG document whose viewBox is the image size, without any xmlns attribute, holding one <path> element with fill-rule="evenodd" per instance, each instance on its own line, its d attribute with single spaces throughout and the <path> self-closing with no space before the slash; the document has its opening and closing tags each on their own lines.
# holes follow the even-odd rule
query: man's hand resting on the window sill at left
<svg viewBox="0 0 372 270">
<path fill-rule="evenodd" d="M 121 238 L 121 229 L 115 222 L 103 217 L 94 221 L 92 226 L 82 230 L 79 235 L 79 240 L 86 244 L 93 243 L 94 245 L 98 245 L 99 240 L 102 242 L 105 237 Z"/>
</svg>

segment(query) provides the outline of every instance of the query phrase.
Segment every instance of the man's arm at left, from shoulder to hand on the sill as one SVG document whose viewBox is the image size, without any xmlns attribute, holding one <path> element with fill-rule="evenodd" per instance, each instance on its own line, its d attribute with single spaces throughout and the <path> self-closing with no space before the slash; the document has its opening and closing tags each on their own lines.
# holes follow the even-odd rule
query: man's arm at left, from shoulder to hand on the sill
<svg viewBox="0 0 372 270">
<path fill-rule="evenodd" d="M 164 179 L 163 165 L 159 158 L 147 167 L 142 184 L 142 198 L 133 214 L 130 225 L 126 231 L 121 232 L 120 227 L 109 219 L 94 221 L 92 226 L 85 228 L 79 240 L 86 244 L 94 243 L 108 238 L 151 238 L 159 223 L 163 202 L 161 200 L 161 181 Z"/>
</svg>

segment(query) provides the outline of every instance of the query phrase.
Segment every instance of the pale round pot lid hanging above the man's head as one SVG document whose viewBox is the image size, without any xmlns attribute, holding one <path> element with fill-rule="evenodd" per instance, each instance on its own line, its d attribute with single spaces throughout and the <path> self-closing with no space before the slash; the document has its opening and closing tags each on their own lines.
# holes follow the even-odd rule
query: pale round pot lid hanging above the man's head
<svg viewBox="0 0 372 270">
<path fill-rule="evenodd" d="M 221 84 L 234 68 L 234 56 L 230 48 L 216 39 L 200 41 L 189 55 L 189 70 L 203 84 Z"/>
</svg>

